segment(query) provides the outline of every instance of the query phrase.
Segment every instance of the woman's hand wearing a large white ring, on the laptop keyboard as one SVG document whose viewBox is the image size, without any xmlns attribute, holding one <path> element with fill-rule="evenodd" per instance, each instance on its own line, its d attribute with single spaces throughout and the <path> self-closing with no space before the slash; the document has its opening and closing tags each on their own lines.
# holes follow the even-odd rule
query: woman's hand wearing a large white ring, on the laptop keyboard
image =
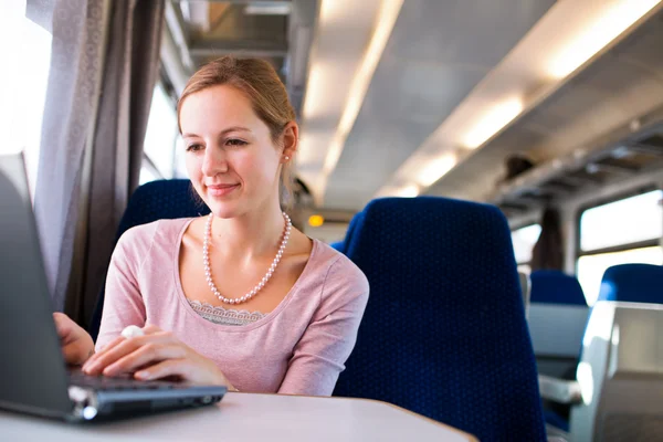
<svg viewBox="0 0 663 442">
<path fill-rule="evenodd" d="M 87 375 L 151 380 L 177 377 L 193 385 L 223 385 L 235 390 L 217 365 L 156 326 L 144 336 L 118 336 L 83 366 Z M 235 390 L 236 391 L 236 390 Z"/>
</svg>

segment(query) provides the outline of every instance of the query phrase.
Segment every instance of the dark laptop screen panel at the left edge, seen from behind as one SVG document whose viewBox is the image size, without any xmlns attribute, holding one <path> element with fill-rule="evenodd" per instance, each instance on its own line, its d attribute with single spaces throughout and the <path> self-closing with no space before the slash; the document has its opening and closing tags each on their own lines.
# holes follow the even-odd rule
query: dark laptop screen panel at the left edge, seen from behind
<svg viewBox="0 0 663 442">
<path fill-rule="evenodd" d="M 22 155 L 0 156 L 0 406 L 72 407 Z"/>
</svg>

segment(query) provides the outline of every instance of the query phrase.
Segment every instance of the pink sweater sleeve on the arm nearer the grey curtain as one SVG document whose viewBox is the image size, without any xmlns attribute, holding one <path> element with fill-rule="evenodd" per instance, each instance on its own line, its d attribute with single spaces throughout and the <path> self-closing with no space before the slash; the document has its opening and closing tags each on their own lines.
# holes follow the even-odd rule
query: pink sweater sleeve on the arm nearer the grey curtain
<svg viewBox="0 0 663 442">
<path fill-rule="evenodd" d="M 128 325 L 144 327 L 146 309 L 138 275 L 149 249 L 157 223 L 127 230 L 117 242 L 106 276 L 104 311 L 95 343 L 98 351 Z"/>
</svg>

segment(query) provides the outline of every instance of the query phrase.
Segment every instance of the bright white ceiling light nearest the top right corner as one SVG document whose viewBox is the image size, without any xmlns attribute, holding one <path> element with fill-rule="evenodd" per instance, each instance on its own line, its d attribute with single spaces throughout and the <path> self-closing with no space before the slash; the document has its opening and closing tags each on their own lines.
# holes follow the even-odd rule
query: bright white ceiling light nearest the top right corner
<svg viewBox="0 0 663 442">
<path fill-rule="evenodd" d="M 659 4 L 660 0 L 622 0 L 569 39 L 548 66 L 550 75 L 564 78 Z"/>
</svg>

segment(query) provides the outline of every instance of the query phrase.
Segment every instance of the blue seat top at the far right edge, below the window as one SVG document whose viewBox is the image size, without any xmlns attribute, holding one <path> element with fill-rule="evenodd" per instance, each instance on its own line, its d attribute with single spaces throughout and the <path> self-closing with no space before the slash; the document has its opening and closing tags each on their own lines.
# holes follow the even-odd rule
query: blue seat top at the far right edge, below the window
<svg viewBox="0 0 663 442">
<path fill-rule="evenodd" d="M 663 304 L 663 266 L 621 264 L 603 274 L 598 301 Z"/>
</svg>

